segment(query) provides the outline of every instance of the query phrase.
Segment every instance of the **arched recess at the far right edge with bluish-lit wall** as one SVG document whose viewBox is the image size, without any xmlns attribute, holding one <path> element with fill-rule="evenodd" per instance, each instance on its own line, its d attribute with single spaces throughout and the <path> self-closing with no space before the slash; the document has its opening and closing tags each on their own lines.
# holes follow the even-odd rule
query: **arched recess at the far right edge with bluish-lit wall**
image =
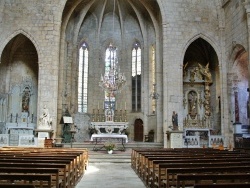
<svg viewBox="0 0 250 188">
<path fill-rule="evenodd" d="M 248 53 L 240 44 L 234 44 L 228 74 L 229 114 L 232 123 L 249 124 Z"/>
</svg>

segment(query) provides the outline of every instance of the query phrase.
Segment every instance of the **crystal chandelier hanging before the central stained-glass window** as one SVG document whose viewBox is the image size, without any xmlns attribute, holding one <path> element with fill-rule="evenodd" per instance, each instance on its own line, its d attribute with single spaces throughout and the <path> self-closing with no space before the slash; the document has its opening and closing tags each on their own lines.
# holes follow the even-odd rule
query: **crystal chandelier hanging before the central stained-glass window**
<svg viewBox="0 0 250 188">
<path fill-rule="evenodd" d="M 124 76 L 124 73 L 120 72 L 120 67 L 118 65 L 116 56 L 117 48 L 110 44 L 108 51 L 109 55 L 106 57 L 106 63 L 108 66 L 105 66 L 106 71 L 104 75 L 101 75 L 99 86 L 107 94 L 112 94 L 112 96 L 115 96 L 117 93 L 121 92 L 122 88 L 126 84 L 126 77 Z"/>
</svg>

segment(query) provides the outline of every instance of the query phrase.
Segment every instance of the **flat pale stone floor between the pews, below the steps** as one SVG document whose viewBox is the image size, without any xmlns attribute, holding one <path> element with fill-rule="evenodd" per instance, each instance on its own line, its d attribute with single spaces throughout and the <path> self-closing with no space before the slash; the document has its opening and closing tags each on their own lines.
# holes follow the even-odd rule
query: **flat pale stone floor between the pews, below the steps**
<svg viewBox="0 0 250 188">
<path fill-rule="evenodd" d="M 90 163 L 76 188 L 145 188 L 130 163 Z"/>
</svg>

